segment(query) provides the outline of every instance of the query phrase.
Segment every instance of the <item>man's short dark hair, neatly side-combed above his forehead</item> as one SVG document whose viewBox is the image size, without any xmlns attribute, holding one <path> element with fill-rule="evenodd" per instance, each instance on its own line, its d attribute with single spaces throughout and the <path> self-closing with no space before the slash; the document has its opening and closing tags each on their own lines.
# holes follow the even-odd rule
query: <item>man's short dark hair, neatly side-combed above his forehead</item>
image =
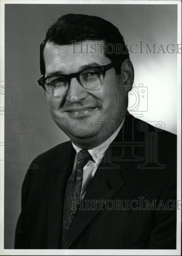
<svg viewBox="0 0 182 256">
<path fill-rule="evenodd" d="M 111 45 L 104 52 L 112 62 L 123 62 L 129 58 L 129 52 L 124 39 L 112 23 L 97 16 L 83 14 L 66 14 L 60 17 L 47 30 L 46 38 L 40 45 L 40 72 L 45 75 L 44 48 L 47 42 L 57 45 L 69 45 L 71 41 L 103 40 L 105 44 L 112 44 L 116 50 L 116 44 L 120 45 L 118 53 L 113 52 Z M 111 52 L 110 54 L 108 52 Z M 113 52 L 113 53 L 112 53 Z M 114 65 L 116 74 L 120 74 L 121 65 Z"/>
</svg>

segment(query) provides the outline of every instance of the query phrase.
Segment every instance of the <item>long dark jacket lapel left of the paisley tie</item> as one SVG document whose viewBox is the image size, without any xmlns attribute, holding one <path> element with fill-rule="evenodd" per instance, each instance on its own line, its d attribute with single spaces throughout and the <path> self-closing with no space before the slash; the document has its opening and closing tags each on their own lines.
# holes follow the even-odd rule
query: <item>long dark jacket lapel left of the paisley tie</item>
<svg viewBox="0 0 182 256">
<path fill-rule="evenodd" d="M 60 246 L 65 191 L 72 171 L 75 154 L 71 142 L 69 147 L 65 148 L 65 152 L 66 157 L 64 157 L 64 159 L 62 159 L 60 155 L 57 156 L 55 158 L 59 159 L 57 163 L 49 167 L 50 172 L 51 169 L 56 168 L 58 176 L 50 182 L 49 188 L 48 249 L 58 249 Z M 65 164 L 62 166 L 62 163 Z"/>
</svg>

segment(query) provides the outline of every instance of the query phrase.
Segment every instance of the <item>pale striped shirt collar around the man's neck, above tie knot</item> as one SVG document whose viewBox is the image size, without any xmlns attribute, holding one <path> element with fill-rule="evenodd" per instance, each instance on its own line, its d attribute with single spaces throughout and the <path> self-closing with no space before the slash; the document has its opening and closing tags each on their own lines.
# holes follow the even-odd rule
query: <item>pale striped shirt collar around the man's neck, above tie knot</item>
<svg viewBox="0 0 182 256">
<path fill-rule="evenodd" d="M 108 149 L 111 142 L 115 139 L 115 137 L 119 133 L 121 127 L 123 126 L 124 120 L 125 120 L 125 117 L 123 119 L 123 122 L 118 127 L 118 129 L 106 141 L 104 141 L 102 144 L 98 145 L 97 147 L 94 147 L 94 148 L 88 150 L 88 152 L 91 154 L 93 160 L 95 161 L 95 163 L 97 165 L 100 164 L 100 162 L 105 154 L 105 151 Z M 73 145 L 74 149 L 76 150 L 77 154 L 80 150 L 82 150 L 82 148 L 74 145 L 73 142 L 72 142 L 72 145 Z"/>
</svg>

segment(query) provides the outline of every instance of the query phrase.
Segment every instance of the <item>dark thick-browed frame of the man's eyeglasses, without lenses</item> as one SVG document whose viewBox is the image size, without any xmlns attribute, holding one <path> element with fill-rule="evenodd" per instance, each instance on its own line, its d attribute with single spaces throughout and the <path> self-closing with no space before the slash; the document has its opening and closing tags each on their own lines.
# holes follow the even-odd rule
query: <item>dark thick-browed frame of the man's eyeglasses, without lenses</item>
<svg viewBox="0 0 182 256">
<path fill-rule="evenodd" d="M 51 94 L 47 91 L 47 93 L 49 93 L 49 95 L 50 95 L 51 97 L 54 97 L 54 98 L 63 97 L 63 96 L 65 96 L 66 94 L 68 94 L 68 91 L 69 91 L 69 88 L 70 88 L 70 83 L 71 83 L 71 79 L 72 79 L 72 78 L 76 78 L 77 81 L 80 83 L 80 85 L 81 85 L 84 89 L 86 89 L 86 90 L 88 90 L 88 91 L 95 91 L 95 90 L 98 90 L 99 88 L 101 88 L 101 86 L 103 85 L 104 80 L 105 80 L 105 72 L 106 72 L 107 70 L 113 68 L 113 67 L 114 67 L 114 63 L 111 62 L 111 63 L 109 63 L 108 65 L 104 65 L 104 66 L 94 66 L 94 67 L 90 67 L 90 68 L 84 68 L 84 69 L 80 70 L 80 71 L 77 72 L 77 73 L 71 73 L 71 74 L 54 74 L 54 75 L 47 76 L 47 77 L 44 77 L 44 76 L 43 76 L 43 77 L 41 77 L 39 80 L 37 80 L 37 82 L 38 82 L 38 84 L 39 84 L 40 86 L 42 86 L 42 88 L 43 88 L 45 91 L 47 91 L 47 89 L 46 89 L 46 87 L 45 87 L 45 81 L 46 81 L 48 78 L 55 77 L 55 76 L 62 76 L 62 77 L 65 77 L 65 78 L 67 79 L 67 81 L 68 81 L 68 90 L 67 90 L 67 92 L 65 92 L 64 94 L 62 94 L 62 95 L 60 95 L 60 96 L 54 96 L 54 95 L 51 95 Z M 99 87 L 95 88 L 95 89 L 88 89 L 87 87 L 84 86 L 84 84 L 83 84 L 83 83 L 81 82 L 81 80 L 80 80 L 80 74 L 81 74 L 83 71 L 89 70 L 89 69 L 100 69 L 100 70 L 102 71 L 102 76 L 103 76 L 102 84 L 101 84 Z"/>
</svg>

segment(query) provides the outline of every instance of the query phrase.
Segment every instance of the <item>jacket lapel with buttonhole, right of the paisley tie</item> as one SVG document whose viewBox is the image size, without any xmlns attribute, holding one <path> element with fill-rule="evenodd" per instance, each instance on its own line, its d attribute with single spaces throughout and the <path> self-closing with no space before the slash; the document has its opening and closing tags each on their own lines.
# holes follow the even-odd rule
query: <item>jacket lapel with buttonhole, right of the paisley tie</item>
<svg viewBox="0 0 182 256">
<path fill-rule="evenodd" d="M 91 200 L 109 200 L 123 186 L 123 184 L 124 180 L 118 170 L 105 168 L 98 169 L 83 199 L 83 209 L 87 207 L 90 209 Z M 104 206 L 104 202 L 101 202 L 101 208 Z M 69 248 L 83 229 L 99 213 L 100 202 L 96 203 L 96 205 L 95 210 L 79 209 L 77 211 L 66 237 L 66 248 Z"/>
</svg>

